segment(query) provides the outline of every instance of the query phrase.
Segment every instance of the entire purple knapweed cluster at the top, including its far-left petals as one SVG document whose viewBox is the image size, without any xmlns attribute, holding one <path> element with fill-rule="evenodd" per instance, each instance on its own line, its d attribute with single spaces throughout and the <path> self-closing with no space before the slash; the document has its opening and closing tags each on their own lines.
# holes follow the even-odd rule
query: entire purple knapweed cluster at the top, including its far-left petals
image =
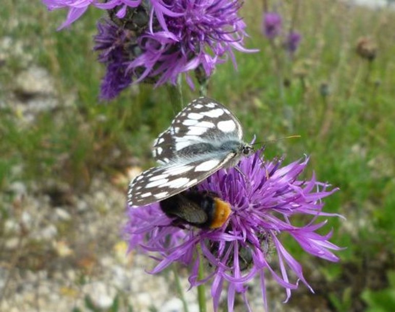
<svg viewBox="0 0 395 312">
<path fill-rule="evenodd" d="M 185 73 L 199 70 L 208 79 L 216 64 L 233 61 L 233 49 L 255 52 L 243 46 L 245 23 L 238 16 L 240 0 L 43 0 L 52 10 L 68 8 L 69 26 L 89 6 L 108 10 L 112 21 L 98 23 L 95 50 L 107 65 L 101 97 L 114 98 L 128 84 L 149 82 L 175 84 Z M 144 7 L 145 25 L 136 31 L 137 10 Z M 141 13 L 141 12 L 140 12 Z M 140 19 L 141 21 L 141 19 Z"/>
</svg>

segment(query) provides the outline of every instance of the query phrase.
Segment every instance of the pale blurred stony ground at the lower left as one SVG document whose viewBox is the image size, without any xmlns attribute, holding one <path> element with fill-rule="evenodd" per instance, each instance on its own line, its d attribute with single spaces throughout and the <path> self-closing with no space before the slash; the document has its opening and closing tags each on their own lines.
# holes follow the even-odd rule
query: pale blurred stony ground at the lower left
<svg viewBox="0 0 395 312">
<path fill-rule="evenodd" d="M 95 179 L 81 196 L 67 195 L 65 189 L 62 193 L 55 183 L 51 190 L 27 192 L 22 183 L 9 189 L 8 194 L 14 194 L 8 207 L 13 216 L 5 222 L 2 239 L 0 311 L 129 311 L 128 307 L 141 312 L 183 311 L 173 272 L 147 274 L 153 260 L 126 253 L 120 238 L 125 222 L 123 190 L 105 179 Z M 62 196 L 69 204 L 54 205 Z M 187 271 L 180 275 L 189 311 L 198 311 L 196 289 L 187 291 Z M 272 310 L 300 310 L 281 302 L 284 293 L 272 280 L 268 285 L 278 297 L 270 299 Z M 253 310 L 263 311 L 258 281 L 250 288 Z M 112 310 L 114 302 L 118 308 Z M 241 301 L 236 310 L 245 310 Z"/>
</svg>

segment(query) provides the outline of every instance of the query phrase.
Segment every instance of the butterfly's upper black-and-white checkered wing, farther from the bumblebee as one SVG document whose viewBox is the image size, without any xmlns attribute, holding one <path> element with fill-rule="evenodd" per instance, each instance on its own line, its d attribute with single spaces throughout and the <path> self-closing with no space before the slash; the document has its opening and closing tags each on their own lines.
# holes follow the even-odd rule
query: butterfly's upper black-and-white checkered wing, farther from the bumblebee
<svg viewBox="0 0 395 312">
<path fill-rule="evenodd" d="M 174 158 L 192 156 L 193 148 L 190 147 L 193 145 L 223 138 L 243 138 L 239 120 L 219 102 L 201 97 L 181 110 L 170 127 L 157 137 L 152 153 L 157 162 L 165 165 Z M 196 153 L 201 152 L 200 149 L 195 150 Z"/>
</svg>

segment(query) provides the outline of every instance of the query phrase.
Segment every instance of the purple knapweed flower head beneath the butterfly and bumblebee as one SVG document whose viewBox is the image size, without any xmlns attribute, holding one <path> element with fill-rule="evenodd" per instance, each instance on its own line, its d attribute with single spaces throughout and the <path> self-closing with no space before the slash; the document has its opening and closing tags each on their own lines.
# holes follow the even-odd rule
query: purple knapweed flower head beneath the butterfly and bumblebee
<svg viewBox="0 0 395 312">
<path fill-rule="evenodd" d="M 228 311 L 233 311 L 236 293 L 242 295 L 250 311 L 247 283 L 255 277 L 260 280 L 267 310 L 267 273 L 286 289 L 287 300 L 299 281 L 311 289 L 301 264 L 283 246 L 280 234 L 290 235 L 313 256 L 339 260 L 331 252 L 340 250 L 329 242 L 332 231 L 326 235 L 317 233 L 326 224 L 326 220 L 317 218 L 335 215 L 322 211 L 322 199 L 337 189 L 329 190 L 329 185 L 316 181 L 314 175 L 310 180 L 299 180 L 308 158 L 282 166 L 282 160 L 263 161 L 261 152 L 244 158 L 237 170 L 221 169 L 198 186 L 230 204 L 232 212 L 221 228 L 176 227 L 158 203 L 128 208 L 124 233 L 129 250 L 139 248 L 159 261 L 151 273 L 158 273 L 173 262 L 190 265 L 191 286 L 211 281 L 214 311 L 218 311 L 225 287 Z M 292 222 L 295 215 L 310 215 L 311 219 L 306 225 L 297 226 Z M 203 280 L 198 280 L 202 258 L 196 256 L 198 250 L 209 264 Z"/>
</svg>

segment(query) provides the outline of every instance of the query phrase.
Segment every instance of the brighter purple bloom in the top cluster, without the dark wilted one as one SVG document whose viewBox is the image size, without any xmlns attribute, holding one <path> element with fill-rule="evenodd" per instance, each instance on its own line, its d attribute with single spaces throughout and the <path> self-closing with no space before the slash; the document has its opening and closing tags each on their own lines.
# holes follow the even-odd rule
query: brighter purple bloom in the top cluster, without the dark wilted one
<svg viewBox="0 0 395 312">
<path fill-rule="evenodd" d="M 172 0 L 167 5 L 180 16 L 165 16 L 167 30 L 147 32 L 139 38 L 143 53 L 128 63 L 128 72 L 137 76 L 135 82 L 158 77 L 156 85 L 175 84 L 179 75 L 186 73 L 193 88 L 187 72 L 202 68 L 210 77 L 216 64 L 227 57 L 235 64 L 232 49 L 255 52 L 243 47 L 246 33 L 237 15 L 239 0 Z"/>
</svg>

